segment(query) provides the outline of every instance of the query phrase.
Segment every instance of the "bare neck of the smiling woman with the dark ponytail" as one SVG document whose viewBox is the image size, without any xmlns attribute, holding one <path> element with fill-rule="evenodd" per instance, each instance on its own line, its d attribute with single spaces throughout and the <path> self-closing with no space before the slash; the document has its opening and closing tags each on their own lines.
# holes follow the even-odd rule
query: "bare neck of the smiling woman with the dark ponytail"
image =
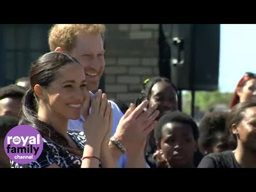
<svg viewBox="0 0 256 192">
<path fill-rule="evenodd" d="M 52 114 L 51 111 L 46 110 L 43 107 L 38 108 L 38 118 L 41 121 L 50 124 L 54 127 L 55 131 L 68 139 L 68 119 L 60 117 L 57 114 Z"/>
</svg>

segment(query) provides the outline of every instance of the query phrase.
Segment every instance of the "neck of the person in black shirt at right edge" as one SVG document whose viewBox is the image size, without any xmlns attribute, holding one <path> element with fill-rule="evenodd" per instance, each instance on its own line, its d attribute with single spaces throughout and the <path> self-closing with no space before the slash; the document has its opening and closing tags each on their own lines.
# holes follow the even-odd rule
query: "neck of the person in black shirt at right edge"
<svg viewBox="0 0 256 192">
<path fill-rule="evenodd" d="M 256 151 L 252 151 L 237 143 L 236 150 L 233 151 L 236 161 L 244 168 L 256 168 Z"/>
</svg>

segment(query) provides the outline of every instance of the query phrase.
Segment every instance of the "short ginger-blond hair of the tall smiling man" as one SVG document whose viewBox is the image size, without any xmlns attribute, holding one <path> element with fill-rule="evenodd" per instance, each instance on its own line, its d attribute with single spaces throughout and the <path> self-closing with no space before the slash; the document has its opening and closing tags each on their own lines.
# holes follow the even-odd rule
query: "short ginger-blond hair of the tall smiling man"
<svg viewBox="0 0 256 192">
<path fill-rule="evenodd" d="M 78 35 L 101 35 L 103 39 L 105 31 L 106 27 L 103 24 L 55 24 L 49 31 L 48 43 L 51 51 L 61 47 L 64 51 L 71 52 Z"/>
</svg>

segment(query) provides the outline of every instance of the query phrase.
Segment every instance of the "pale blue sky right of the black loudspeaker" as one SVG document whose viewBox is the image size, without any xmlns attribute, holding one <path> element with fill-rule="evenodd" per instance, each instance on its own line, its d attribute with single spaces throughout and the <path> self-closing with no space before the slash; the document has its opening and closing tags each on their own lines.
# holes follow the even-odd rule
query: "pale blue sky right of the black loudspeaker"
<svg viewBox="0 0 256 192">
<path fill-rule="evenodd" d="M 219 89 L 233 92 L 246 71 L 256 73 L 256 25 L 222 24 Z"/>
</svg>

